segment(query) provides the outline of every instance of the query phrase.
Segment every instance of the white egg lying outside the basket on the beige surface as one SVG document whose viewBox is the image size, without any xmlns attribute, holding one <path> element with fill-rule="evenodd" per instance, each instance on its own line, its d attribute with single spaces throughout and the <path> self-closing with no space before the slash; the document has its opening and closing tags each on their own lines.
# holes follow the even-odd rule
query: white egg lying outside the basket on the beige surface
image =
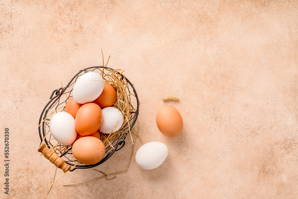
<svg viewBox="0 0 298 199">
<path fill-rule="evenodd" d="M 155 169 L 166 159 L 168 148 L 161 142 L 149 142 L 144 144 L 136 152 L 136 163 L 142 169 Z"/>
</svg>

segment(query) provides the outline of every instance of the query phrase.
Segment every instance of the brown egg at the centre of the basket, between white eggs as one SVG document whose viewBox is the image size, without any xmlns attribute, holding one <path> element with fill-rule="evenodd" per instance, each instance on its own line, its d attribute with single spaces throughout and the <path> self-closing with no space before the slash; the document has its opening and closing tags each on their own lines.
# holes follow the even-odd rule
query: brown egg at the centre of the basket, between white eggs
<svg viewBox="0 0 298 199">
<path fill-rule="evenodd" d="M 95 103 L 87 103 L 80 107 L 75 118 L 75 129 L 82 136 L 92 135 L 99 129 L 103 121 L 103 112 Z"/>
</svg>

